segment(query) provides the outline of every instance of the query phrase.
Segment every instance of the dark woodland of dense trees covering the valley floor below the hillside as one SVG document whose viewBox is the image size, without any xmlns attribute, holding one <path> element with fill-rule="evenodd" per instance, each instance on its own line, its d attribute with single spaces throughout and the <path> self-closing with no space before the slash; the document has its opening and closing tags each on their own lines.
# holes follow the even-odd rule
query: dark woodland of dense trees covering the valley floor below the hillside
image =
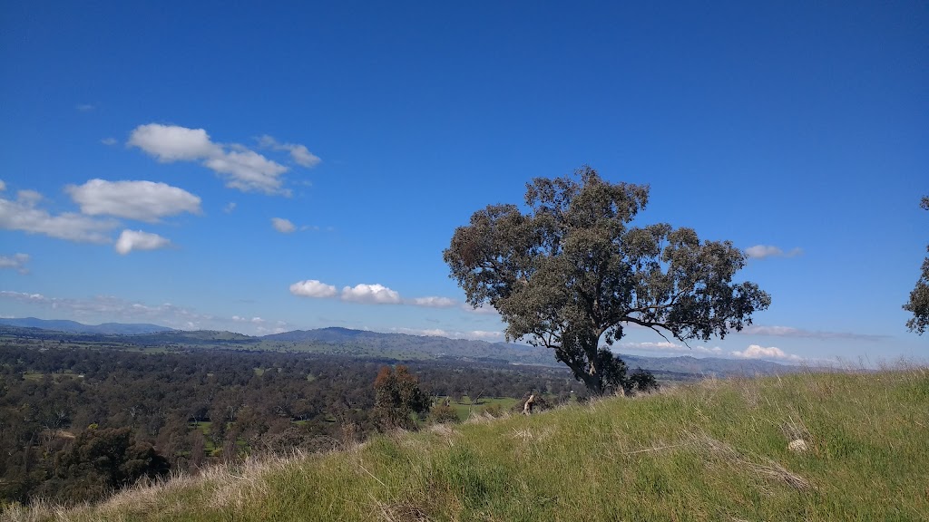
<svg viewBox="0 0 929 522">
<path fill-rule="evenodd" d="M 332 450 L 379 424 L 393 359 L 216 349 L 0 346 L 0 503 L 98 499 L 142 476 L 250 453 Z M 560 368 L 408 363 L 425 397 L 567 400 Z M 428 419 L 425 419 L 427 422 Z"/>
</svg>

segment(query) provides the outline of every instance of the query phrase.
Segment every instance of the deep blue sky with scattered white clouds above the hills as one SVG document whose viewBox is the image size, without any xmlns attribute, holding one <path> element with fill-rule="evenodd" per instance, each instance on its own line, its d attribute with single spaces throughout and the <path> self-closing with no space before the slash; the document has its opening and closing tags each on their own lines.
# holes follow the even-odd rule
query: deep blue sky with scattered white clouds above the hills
<svg viewBox="0 0 929 522">
<path fill-rule="evenodd" d="M 927 355 L 924 2 L 190 4 L 4 4 L 0 316 L 498 340 L 441 252 L 586 163 L 773 298 L 620 351 Z"/>
</svg>

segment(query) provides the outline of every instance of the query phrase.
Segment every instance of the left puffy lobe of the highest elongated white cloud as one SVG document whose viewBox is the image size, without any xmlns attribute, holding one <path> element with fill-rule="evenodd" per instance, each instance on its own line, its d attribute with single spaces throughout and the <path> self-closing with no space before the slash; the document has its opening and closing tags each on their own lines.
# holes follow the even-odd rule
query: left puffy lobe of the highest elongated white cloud
<svg viewBox="0 0 929 522">
<path fill-rule="evenodd" d="M 127 143 L 145 150 L 159 162 L 192 162 L 221 155 L 223 150 L 204 129 L 178 125 L 139 125 Z"/>
</svg>

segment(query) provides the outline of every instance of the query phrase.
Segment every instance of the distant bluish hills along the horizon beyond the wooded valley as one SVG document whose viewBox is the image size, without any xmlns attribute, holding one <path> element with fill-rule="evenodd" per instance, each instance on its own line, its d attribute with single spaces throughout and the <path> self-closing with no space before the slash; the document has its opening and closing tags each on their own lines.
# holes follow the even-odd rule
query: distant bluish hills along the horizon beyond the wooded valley
<svg viewBox="0 0 929 522">
<path fill-rule="evenodd" d="M 4 319 L 3 333 L 17 335 L 16 329 L 42 329 L 51 335 L 74 335 L 86 340 L 107 343 L 108 336 L 118 335 L 121 345 L 142 347 L 188 346 L 190 348 L 222 348 L 248 350 L 299 351 L 307 353 L 343 354 L 379 359 L 454 359 L 500 364 L 530 364 L 561 366 L 551 350 L 511 343 L 489 343 L 467 339 L 378 333 L 347 328 L 295 330 L 250 336 L 242 333 L 172 330 L 157 324 L 104 323 L 86 325 L 72 320 Z M 22 332 L 34 335 L 35 330 Z M 66 339 L 67 340 L 67 339 Z M 79 339 L 74 339 L 79 340 Z M 644 357 L 620 355 L 630 370 L 642 368 L 661 374 L 687 374 L 696 377 L 730 375 L 768 375 L 804 371 L 805 367 L 789 366 L 758 359 L 719 359 L 694 357 Z"/>
</svg>

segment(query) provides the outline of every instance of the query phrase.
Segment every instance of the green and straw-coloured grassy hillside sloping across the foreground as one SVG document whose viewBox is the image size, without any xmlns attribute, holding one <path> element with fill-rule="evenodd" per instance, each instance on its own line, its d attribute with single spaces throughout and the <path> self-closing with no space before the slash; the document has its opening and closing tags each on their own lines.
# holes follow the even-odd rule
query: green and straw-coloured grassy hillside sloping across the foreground
<svg viewBox="0 0 929 522">
<path fill-rule="evenodd" d="M 805 438 L 805 452 L 788 450 Z M 214 468 L 20 520 L 926 520 L 929 371 L 706 381 Z"/>
</svg>

